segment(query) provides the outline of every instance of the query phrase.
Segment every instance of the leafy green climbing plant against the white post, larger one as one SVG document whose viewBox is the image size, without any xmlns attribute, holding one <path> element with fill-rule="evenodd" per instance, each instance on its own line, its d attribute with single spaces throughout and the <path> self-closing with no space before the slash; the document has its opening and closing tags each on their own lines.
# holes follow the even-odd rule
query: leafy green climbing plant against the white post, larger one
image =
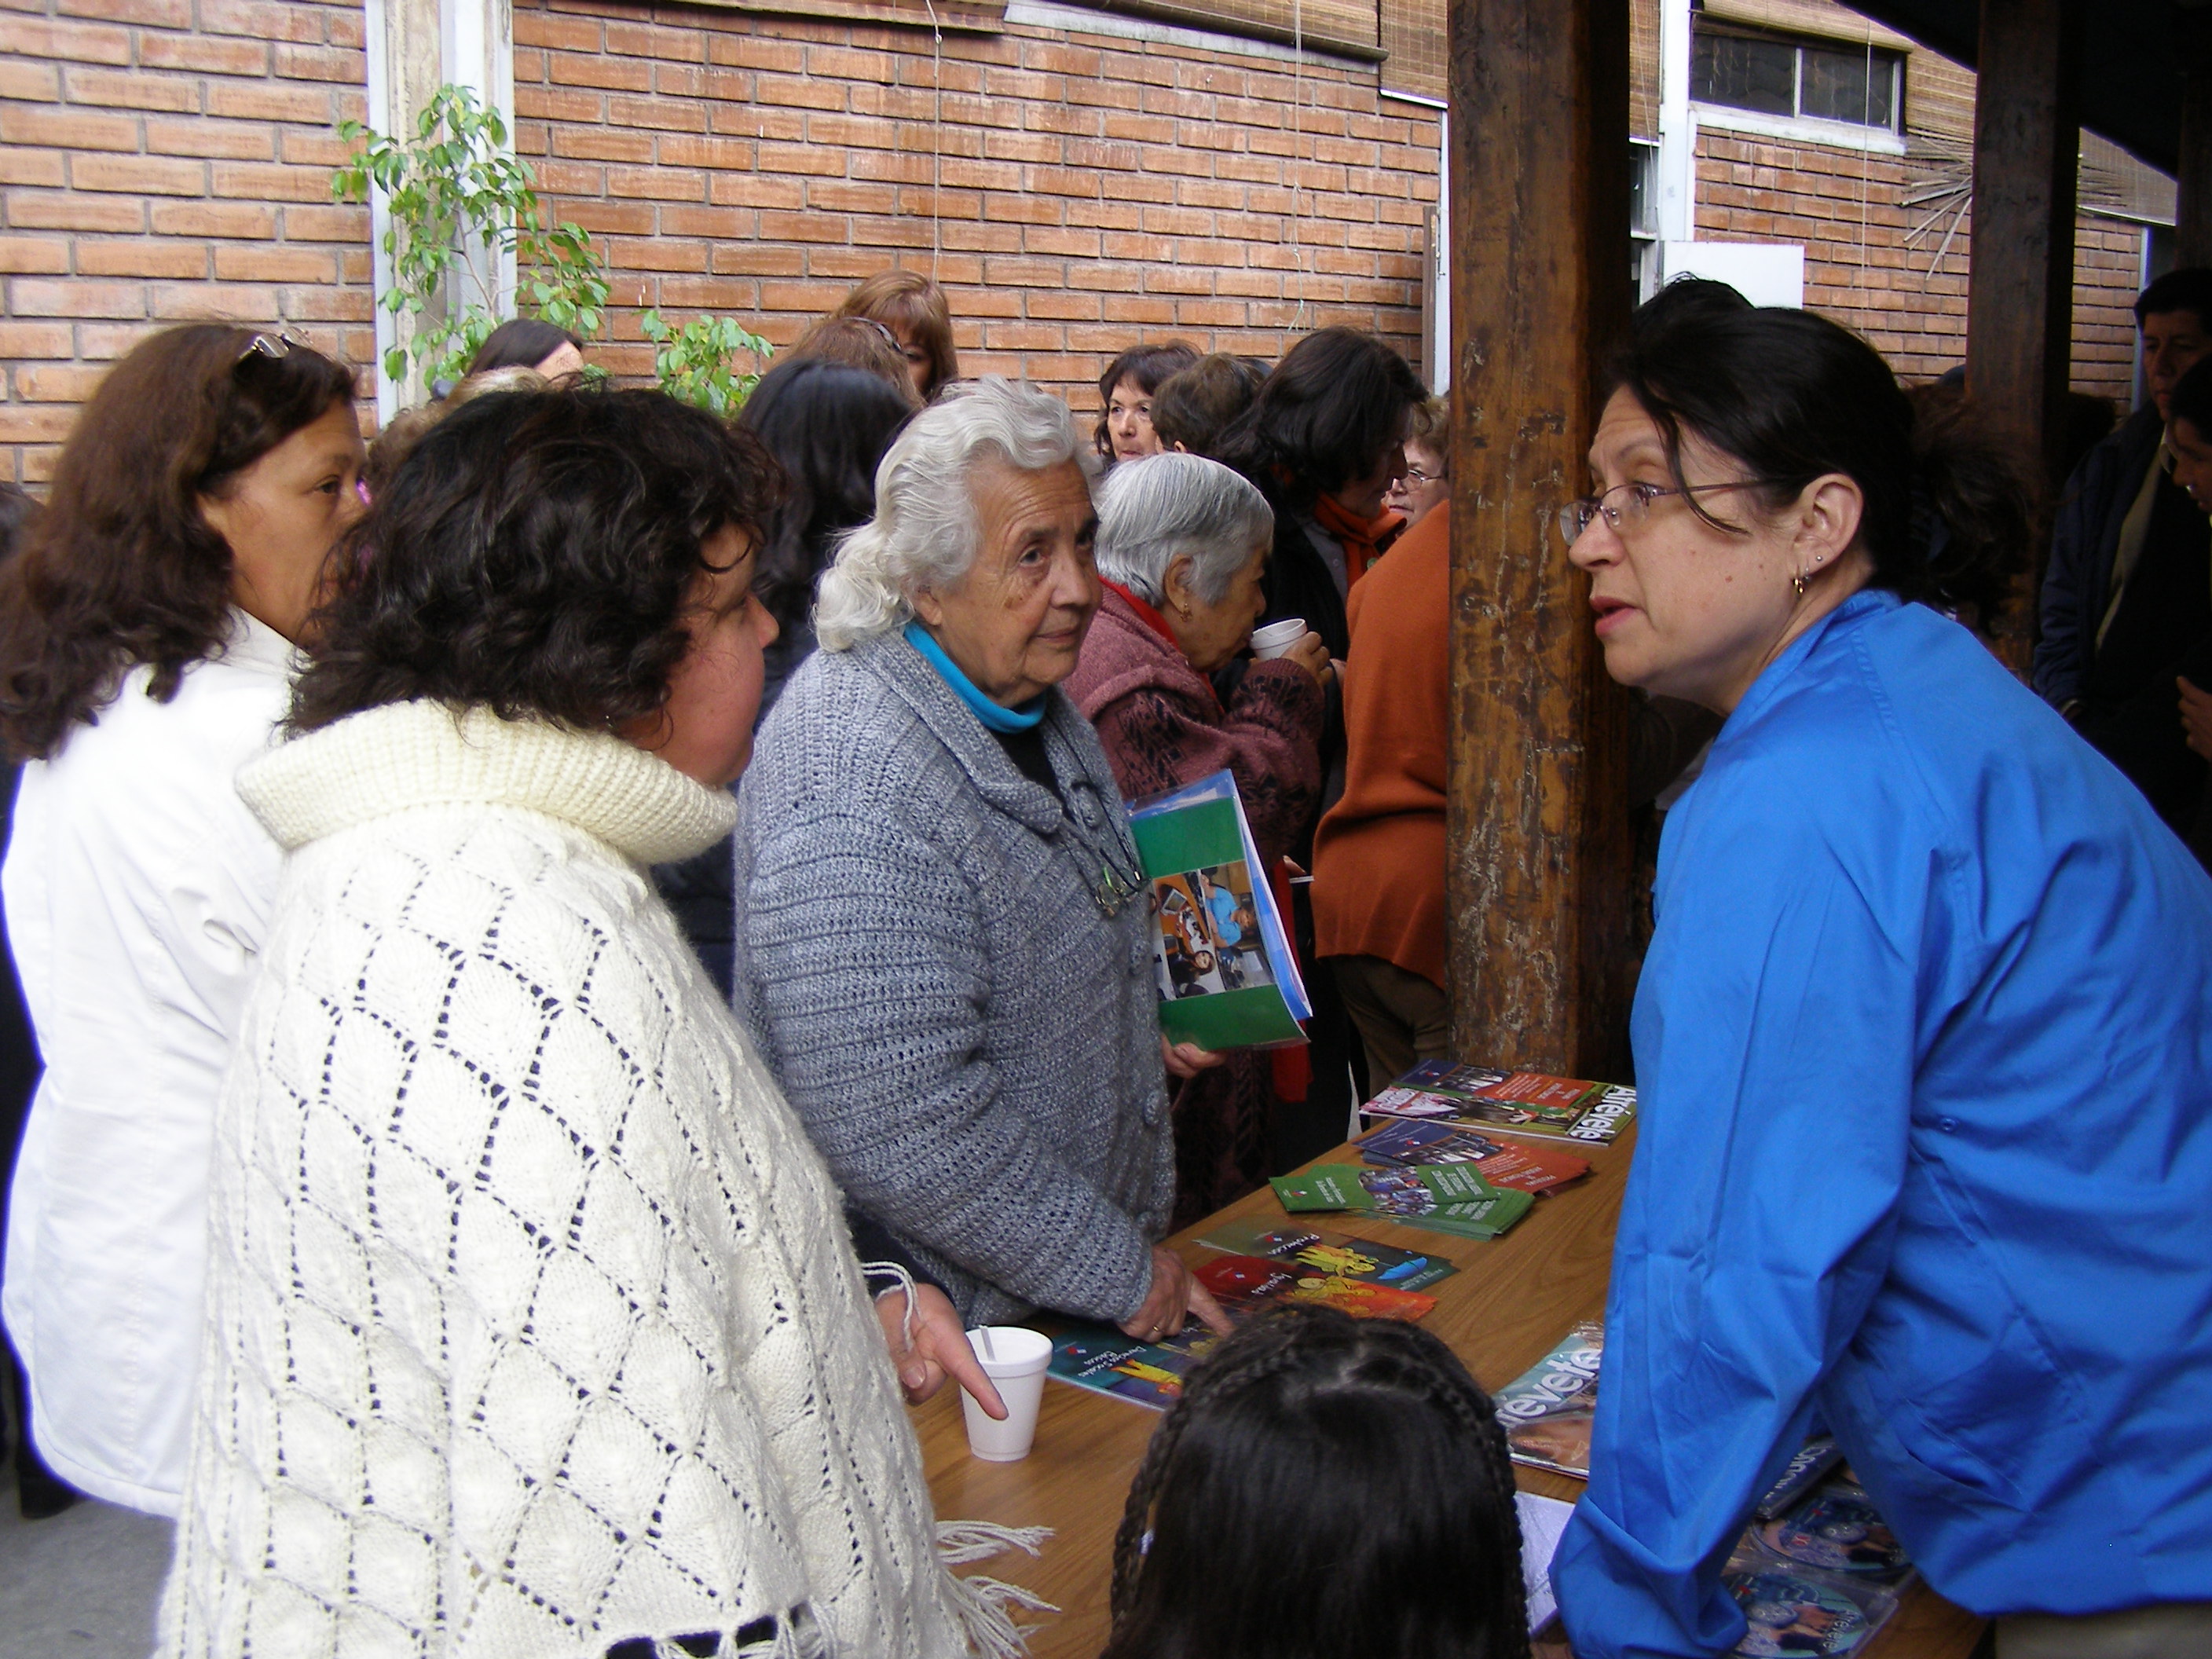
<svg viewBox="0 0 2212 1659">
<path fill-rule="evenodd" d="M 555 223 L 531 168 L 507 148 L 507 122 L 467 86 L 440 86 L 400 142 L 363 122 L 338 122 L 358 148 L 330 179 L 336 201 L 385 192 L 392 288 L 380 305 L 414 321 L 414 338 L 385 352 L 385 374 L 458 376 L 500 323 L 500 254 L 515 257 L 515 299 L 549 323 L 591 338 L 606 316 L 606 261 L 591 237 Z"/>
</svg>

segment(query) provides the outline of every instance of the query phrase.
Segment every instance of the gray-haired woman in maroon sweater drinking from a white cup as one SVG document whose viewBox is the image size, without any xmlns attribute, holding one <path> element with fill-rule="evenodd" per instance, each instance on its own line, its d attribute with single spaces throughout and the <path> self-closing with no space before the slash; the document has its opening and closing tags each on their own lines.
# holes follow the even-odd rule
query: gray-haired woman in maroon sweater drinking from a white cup
<svg viewBox="0 0 2212 1659">
<path fill-rule="evenodd" d="M 1159 794 L 1228 768 L 1261 858 L 1274 865 L 1321 794 L 1323 677 L 1307 633 L 1254 661 L 1223 701 L 1208 679 L 1252 639 L 1274 511 L 1239 473 L 1201 456 L 1124 462 L 1099 500 L 1106 588 L 1068 697 L 1097 726 L 1124 796 Z M 1175 1097 L 1175 1225 L 1267 1179 L 1274 1068 L 1254 1051 Z"/>
</svg>

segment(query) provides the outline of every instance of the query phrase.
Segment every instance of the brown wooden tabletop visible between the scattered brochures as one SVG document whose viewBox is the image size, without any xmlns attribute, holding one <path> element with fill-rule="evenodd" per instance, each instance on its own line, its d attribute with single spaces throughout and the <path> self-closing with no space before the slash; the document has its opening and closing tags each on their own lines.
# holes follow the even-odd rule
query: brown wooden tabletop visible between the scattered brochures
<svg viewBox="0 0 2212 1659">
<path fill-rule="evenodd" d="M 1498 1389 L 1544 1358 L 1577 1318 L 1604 1316 L 1613 1230 L 1621 1214 L 1621 1186 L 1628 1179 L 1632 1144 L 1630 1130 L 1621 1146 L 1575 1148 L 1593 1164 L 1588 1179 L 1557 1197 L 1537 1199 L 1513 1232 L 1489 1243 L 1352 1214 L 1325 1214 L 1312 1221 L 1332 1232 L 1369 1237 L 1455 1263 L 1460 1272 L 1440 1285 L 1429 1285 L 1436 1312 L 1422 1323 L 1467 1360 L 1482 1387 Z M 1358 1155 L 1338 1148 L 1318 1161 L 1356 1164 Z M 1283 1214 L 1265 1188 L 1175 1234 L 1170 1243 L 1186 1259 L 1201 1261 L 1210 1252 L 1192 1245 L 1197 1234 L 1230 1217 L 1259 1214 L 1272 1219 Z M 1113 1533 L 1159 1413 L 1066 1383 L 1046 1383 L 1044 1407 L 1037 1413 L 1037 1444 L 1022 1462 L 984 1462 L 969 1455 L 956 1389 L 945 1389 L 929 1405 L 916 1407 L 914 1420 L 940 1517 L 1053 1528 L 1042 1559 L 1031 1562 L 1015 1553 L 975 1568 L 1024 1584 L 1062 1608 L 1057 1617 L 1044 1615 L 1044 1624 L 1035 1628 L 1031 1637 L 1035 1659 L 1097 1659 L 1108 1628 Z M 1566 1502 L 1582 1495 L 1582 1482 L 1568 1475 L 1520 1467 L 1515 1475 L 1524 1491 Z M 1969 1659 L 1980 1632 L 1980 1619 L 1920 1586 L 1867 1652 L 1880 1659 Z"/>
</svg>

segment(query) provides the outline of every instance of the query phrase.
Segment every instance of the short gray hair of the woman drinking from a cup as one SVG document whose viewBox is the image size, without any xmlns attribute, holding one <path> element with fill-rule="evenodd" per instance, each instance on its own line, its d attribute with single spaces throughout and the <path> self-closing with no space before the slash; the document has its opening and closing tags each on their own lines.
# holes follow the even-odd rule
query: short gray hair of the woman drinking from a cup
<svg viewBox="0 0 2212 1659">
<path fill-rule="evenodd" d="M 1267 498 L 1206 456 L 1124 460 L 1099 491 L 1099 575 L 1150 604 L 1168 597 L 1168 566 L 1186 553 L 1199 604 L 1221 604 L 1272 540 Z"/>
</svg>

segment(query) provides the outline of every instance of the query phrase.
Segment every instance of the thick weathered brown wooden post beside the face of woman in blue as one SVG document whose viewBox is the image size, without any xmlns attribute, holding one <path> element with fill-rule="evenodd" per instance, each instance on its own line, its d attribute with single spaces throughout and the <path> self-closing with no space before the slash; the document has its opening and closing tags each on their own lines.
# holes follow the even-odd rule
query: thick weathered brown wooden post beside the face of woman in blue
<svg viewBox="0 0 2212 1659">
<path fill-rule="evenodd" d="M 1626 1079 L 1628 701 L 1557 509 L 1626 325 L 1628 0 L 1451 0 L 1458 1053 Z"/>
</svg>

